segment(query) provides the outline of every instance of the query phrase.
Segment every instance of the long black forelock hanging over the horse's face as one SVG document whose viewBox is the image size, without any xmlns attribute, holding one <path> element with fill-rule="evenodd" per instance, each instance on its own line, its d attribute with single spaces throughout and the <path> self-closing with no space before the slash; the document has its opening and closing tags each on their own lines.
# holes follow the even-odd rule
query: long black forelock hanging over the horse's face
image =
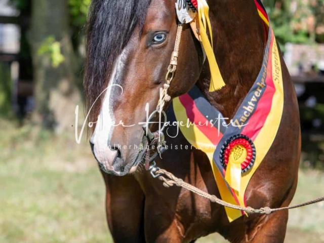
<svg viewBox="0 0 324 243">
<path fill-rule="evenodd" d="M 100 94 L 107 88 L 116 59 L 129 42 L 135 27 L 139 25 L 142 29 L 150 3 L 151 0 L 92 1 L 84 76 L 89 121 L 97 120 L 104 97 Z"/>
</svg>

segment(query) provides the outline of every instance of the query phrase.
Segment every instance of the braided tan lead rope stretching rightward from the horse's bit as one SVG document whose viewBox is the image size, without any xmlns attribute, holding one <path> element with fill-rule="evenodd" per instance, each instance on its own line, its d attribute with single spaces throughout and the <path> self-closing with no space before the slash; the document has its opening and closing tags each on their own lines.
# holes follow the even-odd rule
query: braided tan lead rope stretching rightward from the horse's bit
<svg viewBox="0 0 324 243">
<path fill-rule="evenodd" d="M 303 204 L 299 204 L 299 205 L 295 205 L 292 207 L 284 207 L 284 208 L 278 208 L 278 209 L 270 209 L 269 207 L 264 207 L 261 209 L 253 209 L 251 207 L 241 207 L 241 206 L 237 206 L 237 205 L 233 205 L 230 203 L 227 203 L 226 201 L 223 201 L 222 199 L 218 198 L 215 195 L 211 195 L 203 190 L 198 189 L 197 187 L 194 187 L 186 182 L 184 182 L 182 179 L 179 179 L 177 177 L 175 177 L 175 175 L 173 175 L 172 173 L 160 169 L 158 171 L 156 171 L 156 175 L 159 175 L 158 178 L 159 180 L 163 181 L 163 185 L 167 188 L 173 187 L 173 186 L 177 186 L 177 187 L 182 187 L 185 188 L 197 195 L 203 196 L 207 199 L 209 199 L 212 203 L 216 203 L 219 204 L 221 206 L 227 207 L 227 208 L 231 208 L 231 209 L 236 209 L 236 210 L 240 210 L 240 211 L 244 211 L 247 214 L 263 214 L 263 215 L 270 215 L 273 212 L 276 211 L 282 211 L 282 210 L 290 210 L 290 209 L 296 209 L 296 208 L 301 208 L 304 206 L 308 206 L 308 205 L 312 205 L 312 204 L 316 204 L 319 203 L 320 201 L 324 201 L 324 197 L 320 197 L 311 201 L 308 201 L 307 203 L 303 203 Z"/>
</svg>

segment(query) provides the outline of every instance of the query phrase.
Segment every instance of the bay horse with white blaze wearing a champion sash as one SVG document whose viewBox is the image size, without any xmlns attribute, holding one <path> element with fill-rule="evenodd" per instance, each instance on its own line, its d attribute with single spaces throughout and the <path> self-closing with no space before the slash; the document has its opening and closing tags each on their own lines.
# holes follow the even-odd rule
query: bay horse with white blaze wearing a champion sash
<svg viewBox="0 0 324 243">
<path fill-rule="evenodd" d="M 218 232 L 233 243 L 284 242 L 288 211 L 243 216 L 229 223 L 224 207 L 180 188 L 167 189 L 141 171 L 142 126 L 159 100 L 172 55 L 178 20 L 175 0 L 93 0 L 89 13 L 85 94 L 91 146 L 106 185 L 106 214 L 115 242 L 194 242 Z M 256 79 L 266 35 L 253 0 L 209 0 L 214 53 L 226 86 L 209 92 L 210 70 L 189 24 L 183 25 L 174 98 L 194 85 L 224 117 L 232 118 Z M 297 187 L 299 110 L 282 55 L 285 103 L 277 136 L 252 177 L 247 205 L 284 207 Z M 95 102 L 100 97 L 99 102 Z M 95 121 L 98 119 L 98 122 Z M 114 126 L 119 121 L 126 126 Z M 176 134 L 175 128 L 170 133 Z M 269 131 L 271 132 L 271 131 Z M 168 144 L 189 145 L 179 134 Z M 120 149 L 119 146 L 126 146 Z M 207 155 L 197 149 L 168 150 L 160 168 L 220 197 Z M 117 176 L 116 176 L 117 175 Z"/>
</svg>

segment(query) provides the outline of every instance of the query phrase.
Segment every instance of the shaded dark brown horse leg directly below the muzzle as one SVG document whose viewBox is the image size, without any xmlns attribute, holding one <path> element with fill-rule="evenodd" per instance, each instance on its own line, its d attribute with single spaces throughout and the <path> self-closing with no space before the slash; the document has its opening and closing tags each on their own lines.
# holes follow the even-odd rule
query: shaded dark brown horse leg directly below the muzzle
<svg viewBox="0 0 324 243">
<path fill-rule="evenodd" d="M 134 176 L 103 173 L 106 184 L 107 222 L 115 243 L 145 242 L 144 194 Z"/>
</svg>

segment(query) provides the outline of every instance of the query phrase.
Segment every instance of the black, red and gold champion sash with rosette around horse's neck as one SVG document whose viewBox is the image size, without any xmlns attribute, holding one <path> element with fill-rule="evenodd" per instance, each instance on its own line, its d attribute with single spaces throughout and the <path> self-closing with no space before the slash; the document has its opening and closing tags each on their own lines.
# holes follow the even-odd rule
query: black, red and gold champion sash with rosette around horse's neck
<svg viewBox="0 0 324 243">
<path fill-rule="evenodd" d="M 249 181 L 274 141 L 284 107 L 279 51 L 261 1 L 255 0 L 255 4 L 268 28 L 265 56 L 254 85 L 231 123 L 223 124 L 222 114 L 197 87 L 173 101 L 178 122 L 192 124 L 180 126 L 182 134 L 208 155 L 222 199 L 240 206 L 246 206 Z M 225 210 L 230 222 L 245 215 L 226 207 Z"/>
</svg>

